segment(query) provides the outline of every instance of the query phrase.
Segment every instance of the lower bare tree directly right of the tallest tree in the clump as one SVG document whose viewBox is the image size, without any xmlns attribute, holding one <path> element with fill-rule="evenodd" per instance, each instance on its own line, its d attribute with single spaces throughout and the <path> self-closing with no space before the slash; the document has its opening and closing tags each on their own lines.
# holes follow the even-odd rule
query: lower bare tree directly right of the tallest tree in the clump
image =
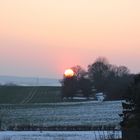
<svg viewBox="0 0 140 140">
<path fill-rule="evenodd" d="M 125 66 L 117 67 L 112 65 L 107 81 L 108 98 L 122 99 L 132 81 L 132 76 Z"/>
</svg>

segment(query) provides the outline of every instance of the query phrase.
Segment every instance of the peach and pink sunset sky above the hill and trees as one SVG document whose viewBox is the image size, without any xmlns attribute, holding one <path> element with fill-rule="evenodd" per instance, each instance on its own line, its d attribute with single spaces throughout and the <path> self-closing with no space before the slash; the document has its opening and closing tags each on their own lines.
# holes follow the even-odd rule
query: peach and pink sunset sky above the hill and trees
<svg viewBox="0 0 140 140">
<path fill-rule="evenodd" d="M 61 78 L 98 57 L 140 72 L 140 0 L 0 0 L 0 75 Z"/>
</svg>

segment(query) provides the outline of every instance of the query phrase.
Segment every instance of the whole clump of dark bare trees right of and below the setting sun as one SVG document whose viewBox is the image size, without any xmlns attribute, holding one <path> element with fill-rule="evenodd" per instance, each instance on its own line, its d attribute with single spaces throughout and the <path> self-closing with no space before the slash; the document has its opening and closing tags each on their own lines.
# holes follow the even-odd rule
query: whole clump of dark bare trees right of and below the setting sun
<svg viewBox="0 0 140 140">
<path fill-rule="evenodd" d="M 133 81 L 126 66 L 110 64 L 106 58 L 98 58 L 87 71 L 81 66 L 71 68 L 75 75 L 61 81 L 62 98 L 73 98 L 77 94 L 89 98 L 93 93 L 103 92 L 107 100 L 123 99 L 127 87 Z M 96 91 L 95 91 L 96 90 Z"/>
</svg>

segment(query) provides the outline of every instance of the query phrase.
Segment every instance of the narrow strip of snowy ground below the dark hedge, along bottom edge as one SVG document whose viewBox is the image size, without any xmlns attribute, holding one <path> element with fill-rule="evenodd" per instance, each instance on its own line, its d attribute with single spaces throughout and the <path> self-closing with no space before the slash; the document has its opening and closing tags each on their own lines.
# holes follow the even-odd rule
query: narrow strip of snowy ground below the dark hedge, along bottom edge
<svg viewBox="0 0 140 140">
<path fill-rule="evenodd" d="M 107 140 L 121 137 L 120 131 L 0 132 L 0 140 Z"/>
</svg>

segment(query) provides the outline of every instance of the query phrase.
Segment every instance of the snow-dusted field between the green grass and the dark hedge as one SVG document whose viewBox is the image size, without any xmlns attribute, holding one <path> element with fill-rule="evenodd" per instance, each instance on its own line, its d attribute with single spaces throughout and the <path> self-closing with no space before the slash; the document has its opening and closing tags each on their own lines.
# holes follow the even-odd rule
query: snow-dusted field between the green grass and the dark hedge
<svg viewBox="0 0 140 140">
<path fill-rule="evenodd" d="M 1 110 L 2 128 L 37 126 L 119 126 L 122 101 L 9 105 Z"/>
</svg>

